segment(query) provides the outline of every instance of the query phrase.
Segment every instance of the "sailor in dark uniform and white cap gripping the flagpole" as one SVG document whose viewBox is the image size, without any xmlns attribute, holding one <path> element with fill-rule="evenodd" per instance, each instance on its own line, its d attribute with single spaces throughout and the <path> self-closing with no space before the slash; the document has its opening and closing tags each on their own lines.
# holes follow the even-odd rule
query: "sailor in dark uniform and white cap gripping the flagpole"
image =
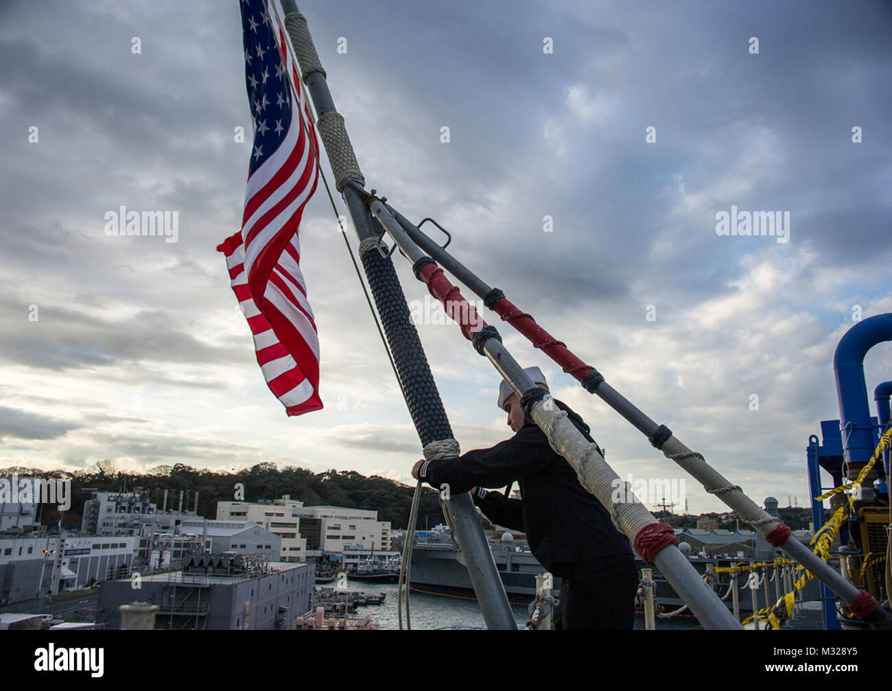
<svg viewBox="0 0 892 691">
<path fill-rule="evenodd" d="M 548 390 L 539 367 L 524 371 Z M 594 443 L 582 417 L 563 402 L 554 402 Z M 556 629 L 632 629 L 638 572 L 629 540 L 524 415 L 508 382 L 500 384 L 498 405 L 508 413 L 514 436 L 460 457 L 418 461 L 412 477 L 436 489 L 445 485 L 451 494 L 471 491 L 475 505 L 491 522 L 526 534 L 536 559 L 562 580 Z M 488 489 L 514 482 L 519 499 Z"/>
</svg>

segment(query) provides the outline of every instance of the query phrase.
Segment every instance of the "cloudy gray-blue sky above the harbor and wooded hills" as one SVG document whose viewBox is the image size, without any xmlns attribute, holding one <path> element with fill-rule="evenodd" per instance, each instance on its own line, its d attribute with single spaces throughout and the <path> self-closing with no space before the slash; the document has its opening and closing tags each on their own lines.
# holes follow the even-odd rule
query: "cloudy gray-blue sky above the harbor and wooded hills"
<svg viewBox="0 0 892 691">
<path fill-rule="evenodd" d="M 458 259 L 750 496 L 805 504 L 808 436 L 838 417 L 833 350 L 855 306 L 892 311 L 888 4 L 299 6 L 368 187 L 440 220 Z M 301 248 L 325 408 L 286 417 L 254 360 L 215 251 L 251 148 L 234 136 L 251 131 L 240 31 L 235 0 L 0 5 L 0 466 L 273 461 L 410 481 L 417 435 L 321 188 Z M 121 205 L 178 211 L 178 242 L 105 234 Z M 789 242 L 717 235 L 732 205 L 789 211 Z M 426 321 L 462 448 L 506 438 L 498 375 Z M 683 477 L 500 331 L 621 476 Z M 890 352 L 866 359 L 871 391 Z M 695 485 L 692 512 L 721 510 Z"/>
</svg>

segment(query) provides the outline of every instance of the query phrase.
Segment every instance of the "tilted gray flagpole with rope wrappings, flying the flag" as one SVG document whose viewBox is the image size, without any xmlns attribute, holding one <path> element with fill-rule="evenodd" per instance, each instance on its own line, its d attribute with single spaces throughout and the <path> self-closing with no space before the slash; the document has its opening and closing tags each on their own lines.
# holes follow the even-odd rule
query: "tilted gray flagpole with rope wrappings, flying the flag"
<svg viewBox="0 0 892 691">
<path fill-rule="evenodd" d="M 335 186 L 343 195 L 359 237 L 359 258 L 391 346 L 403 395 L 424 447 L 425 458 L 457 457 L 458 442 L 452 438 L 449 419 L 417 329 L 409 317 L 406 297 L 396 270 L 390 257 L 380 251 L 377 238 L 381 233 L 376 230 L 376 221 L 366 205 L 368 193 L 363 190 L 366 181 L 344 127 L 343 116 L 335 109 L 307 21 L 298 12 L 293 0 L 282 0 L 282 9 L 285 12 L 285 30 L 316 109 L 317 127 L 335 173 Z M 470 493 L 448 495 L 444 506 L 450 514 L 453 534 L 465 557 L 467 572 L 487 628 L 517 629 Z"/>
</svg>

